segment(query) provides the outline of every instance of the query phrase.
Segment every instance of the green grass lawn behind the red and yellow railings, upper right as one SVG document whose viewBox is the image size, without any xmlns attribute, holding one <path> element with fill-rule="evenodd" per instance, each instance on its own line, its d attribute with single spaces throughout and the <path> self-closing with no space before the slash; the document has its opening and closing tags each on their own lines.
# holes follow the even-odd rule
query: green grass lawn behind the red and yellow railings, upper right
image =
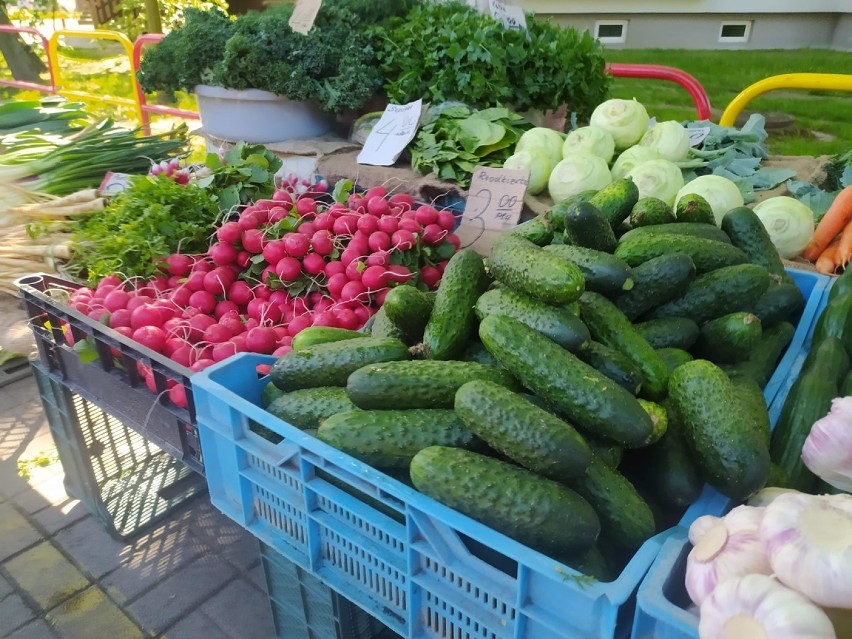
<svg viewBox="0 0 852 639">
<path fill-rule="evenodd" d="M 704 87 L 714 120 L 731 100 L 758 80 L 782 73 L 849 73 L 852 53 L 823 49 L 762 51 L 686 51 L 683 49 L 608 49 L 609 62 L 662 64 L 693 75 Z M 616 78 L 612 96 L 635 97 L 658 120 L 694 120 L 695 107 L 680 85 L 663 80 Z M 775 155 L 824 155 L 852 149 L 852 93 L 784 90 L 752 100 L 748 112 L 793 116 L 795 124 L 769 130 Z"/>
</svg>

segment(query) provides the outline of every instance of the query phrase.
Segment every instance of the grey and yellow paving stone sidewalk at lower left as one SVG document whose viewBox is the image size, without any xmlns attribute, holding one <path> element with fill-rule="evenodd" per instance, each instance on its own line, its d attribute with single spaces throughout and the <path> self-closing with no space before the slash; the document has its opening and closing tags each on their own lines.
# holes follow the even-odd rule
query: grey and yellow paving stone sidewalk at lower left
<svg viewBox="0 0 852 639">
<path fill-rule="evenodd" d="M 0 294 L 0 345 L 28 334 Z M 0 387 L 0 638 L 275 636 L 257 542 L 206 494 L 121 543 L 63 479 L 35 380 Z"/>
</svg>

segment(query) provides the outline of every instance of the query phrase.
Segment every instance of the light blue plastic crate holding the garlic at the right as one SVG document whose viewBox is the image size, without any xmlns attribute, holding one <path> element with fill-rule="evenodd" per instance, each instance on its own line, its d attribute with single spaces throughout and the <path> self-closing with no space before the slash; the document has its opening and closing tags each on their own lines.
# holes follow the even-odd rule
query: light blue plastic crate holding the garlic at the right
<svg viewBox="0 0 852 639">
<path fill-rule="evenodd" d="M 800 272 L 791 271 L 794 278 L 797 273 Z M 808 308 L 799 321 L 796 337 L 773 375 L 773 379 L 777 379 L 776 393 L 771 399 L 767 397 L 769 419 L 773 428 L 810 351 L 817 319 L 828 303 L 828 291 L 832 284 L 830 278 L 811 273 L 807 275 L 821 279 L 818 282 L 819 288 L 814 289 L 808 300 Z M 801 283 L 799 286 L 801 287 Z M 809 309 L 812 312 L 809 312 Z M 796 338 L 799 338 L 798 344 Z M 716 495 L 718 499 L 714 501 L 713 507 L 709 508 L 712 512 L 701 514 L 720 516 L 735 505 L 732 500 L 719 493 Z M 692 602 L 684 586 L 686 556 L 692 548 L 687 539 L 691 521 L 686 523 L 687 519 L 684 517 L 681 522 L 682 530 L 672 534 L 663 544 L 660 554 L 639 587 L 632 639 L 698 639 L 698 616 L 687 609 Z M 692 521 L 694 519 L 695 517 Z"/>
</svg>

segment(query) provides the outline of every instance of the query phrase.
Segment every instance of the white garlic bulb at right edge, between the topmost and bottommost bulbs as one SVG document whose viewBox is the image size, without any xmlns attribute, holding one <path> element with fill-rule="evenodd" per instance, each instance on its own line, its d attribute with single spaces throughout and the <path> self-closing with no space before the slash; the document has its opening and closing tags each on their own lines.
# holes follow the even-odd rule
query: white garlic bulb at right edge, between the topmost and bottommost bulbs
<svg viewBox="0 0 852 639">
<path fill-rule="evenodd" d="M 760 524 L 778 580 L 827 608 L 852 608 L 852 496 L 781 495 Z"/>
</svg>

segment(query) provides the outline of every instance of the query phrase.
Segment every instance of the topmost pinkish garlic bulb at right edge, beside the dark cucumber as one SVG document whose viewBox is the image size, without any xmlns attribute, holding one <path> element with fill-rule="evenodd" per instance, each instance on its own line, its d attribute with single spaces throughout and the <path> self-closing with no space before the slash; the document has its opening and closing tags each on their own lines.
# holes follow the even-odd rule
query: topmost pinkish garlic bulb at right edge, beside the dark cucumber
<svg viewBox="0 0 852 639">
<path fill-rule="evenodd" d="M 826 483 L 852 492 L 852 397 L 831 400 L 831 411 L 805 439 L 802 461 Z"/>
</svg>

